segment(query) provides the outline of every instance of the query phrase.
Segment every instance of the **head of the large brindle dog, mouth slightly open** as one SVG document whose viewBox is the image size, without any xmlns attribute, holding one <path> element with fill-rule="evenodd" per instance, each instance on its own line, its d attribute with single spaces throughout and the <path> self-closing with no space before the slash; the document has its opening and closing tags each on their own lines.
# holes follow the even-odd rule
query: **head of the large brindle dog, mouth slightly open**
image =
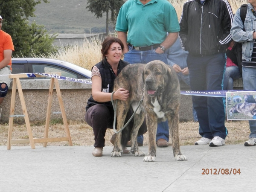
<svg viewBox="0 0 256 192">
<path fill-rule="evenodd" d="M 155 60 L 145 65 L 143 71 L 144 89 L 148 96 L 155 97 L 171 81 L 172 71 L 162 61 Z"/>
</svg>

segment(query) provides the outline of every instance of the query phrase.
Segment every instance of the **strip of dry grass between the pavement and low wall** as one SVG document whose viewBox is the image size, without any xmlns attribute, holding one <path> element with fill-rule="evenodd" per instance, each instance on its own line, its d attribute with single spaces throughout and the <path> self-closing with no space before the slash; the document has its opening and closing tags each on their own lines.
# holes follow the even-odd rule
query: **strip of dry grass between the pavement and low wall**
<svg viewBox="0 0 256 192">
<path fill-rule="evenodd" d="M 248 121 L 228 121 L 226 122 L 228 136 L 226 144 L 244 144 L 248 140 L 250 134 Z M 70 121 L 70 134 L 73 145 L 77 146 L 92 146 L 94 144 L 94 135 L 92 128 L 85 122 Z M 44 125 L 32 125 L 32 133 L 34 138 L 44 137 Z M 105 136 L 105 145 L 112 146 L 110 138 L 113 134 L 112 129 L 108 129 Z M 7 145 L 8 125 L 0 125 L 0 145 Z M 64 137 L 64 126 L 60 123 L 51 125 L 49 128 L 49 137 Z M 13 129 L 12 139 L 27 139 L 28 134 L 26 125 L 15 125 Z M 195 122 L 180 122 L 180 145 L 194 145 L 195 141 L 200 139 L 198 134 L 198 123 Z M 20 146 L 29 145 L 19 144 Z M 42 146 L 42 143 L 35 145 Z M 52 142 L 48 145 L 68 145 L 67 142 Z M 148 134 L 144 134 L 144 145 L 148 145 Z M 13 146 L 13 145 L 12 145 Z"/>
</svg>

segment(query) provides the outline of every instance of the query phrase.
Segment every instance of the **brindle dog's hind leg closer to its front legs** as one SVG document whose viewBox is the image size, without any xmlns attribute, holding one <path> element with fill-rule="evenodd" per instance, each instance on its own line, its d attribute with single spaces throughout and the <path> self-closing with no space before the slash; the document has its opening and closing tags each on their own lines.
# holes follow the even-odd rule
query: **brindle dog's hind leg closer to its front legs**
<svg viewBox="0 0 256 192">
<path fill-rule="evenodd" d="M 140 126 L 143 124 L 145 116 L 141 112 L 140 114 L 135 114 L 133 119 L 133 128 L 131 130 L 131 153 L 134 156 L 145 156 L 143 151 L 140 151 L 138 143 L 137 143 L 137 135 L 140 129 Z"/>
</svg>

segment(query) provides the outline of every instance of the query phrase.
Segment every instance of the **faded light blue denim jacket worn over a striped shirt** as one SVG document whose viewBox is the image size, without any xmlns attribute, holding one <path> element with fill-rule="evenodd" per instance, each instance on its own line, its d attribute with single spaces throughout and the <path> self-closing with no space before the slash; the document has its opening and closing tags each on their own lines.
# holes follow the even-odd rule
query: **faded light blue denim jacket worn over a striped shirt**
<svg viewBox="0 0 256 192">
<path fill-rule="evenodd" d="M 253 32 L 256 30 L 256 17 L 252 12 L 253 6 L 247 4 L 247 14 L 243 22 L 240 17 L 240 8 L 237 10 L 234 17 L 230 33 L 232 38 L 236 42 L 243 43 L 242 46 L 242 59 L 245 61 L 251 61 L 253 53 Z M 244 31 L 245 30 L 245 31 Z"/>
</svg>

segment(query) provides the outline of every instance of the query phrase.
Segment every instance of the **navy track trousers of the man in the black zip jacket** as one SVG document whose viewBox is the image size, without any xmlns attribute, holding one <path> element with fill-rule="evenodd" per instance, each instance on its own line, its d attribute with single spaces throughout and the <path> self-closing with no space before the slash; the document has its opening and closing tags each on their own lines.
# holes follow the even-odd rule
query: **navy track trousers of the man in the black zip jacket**
<svg viewBox="0 0 256 192">
<path fill-rule="evenodd" d="M 204 57 L 188 55 L 190 87 L 195 90 L 223 90 L 226 54 L 218 53 Z M 212 139 L 225 139 L 225 99 L 221 97 L 192 96 L 198 116 L 199 134 Z"/>
</svg>

